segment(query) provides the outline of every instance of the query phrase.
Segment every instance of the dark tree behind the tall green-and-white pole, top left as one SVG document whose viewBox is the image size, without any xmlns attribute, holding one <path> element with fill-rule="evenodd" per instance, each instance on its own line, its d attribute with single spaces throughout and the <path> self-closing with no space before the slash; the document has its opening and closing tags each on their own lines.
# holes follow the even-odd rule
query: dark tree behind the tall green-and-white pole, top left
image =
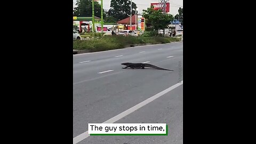
<svg viewBox="0 0 256 144">
<path fill-rule="evenodd" d="M 73 15 L 77 17 L 92 17 L 92 0 L 77 0 L 77 7 L 73 10 Z M 98 2 L 94 1 L 94 15 L 101 17 L 101 8 Z M 103 17 L 105 17 L 103 10 Z"/>
</svg>

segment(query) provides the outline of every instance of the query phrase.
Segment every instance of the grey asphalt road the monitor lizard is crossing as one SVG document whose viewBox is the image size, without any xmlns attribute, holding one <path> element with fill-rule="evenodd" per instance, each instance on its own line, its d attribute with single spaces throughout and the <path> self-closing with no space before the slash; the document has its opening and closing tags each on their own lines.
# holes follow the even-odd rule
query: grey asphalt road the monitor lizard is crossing
<svg viewBox="0 0 256 144">
<path fill-rule="evenodd" d="M 166 123 L 167 136 L 90 136 L 77 141 L 88 130 L 88 123 L 106 122 L 183 83 L 182 53 L 183 43 L 178 42 L 74 55 L 73 143 L 183 143 L 182 84 L 114 122 Z M 122 69 L 123 62 L 147 62 L 174 71 Z"/>
</svg>

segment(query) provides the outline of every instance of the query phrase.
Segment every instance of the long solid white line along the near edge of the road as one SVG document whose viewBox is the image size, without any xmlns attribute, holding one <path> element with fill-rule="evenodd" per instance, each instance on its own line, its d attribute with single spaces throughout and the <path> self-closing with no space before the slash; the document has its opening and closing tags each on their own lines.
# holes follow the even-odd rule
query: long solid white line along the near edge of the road
<svg viewBox="0 0 256 144">
<path fill-rule="evenodd" d="M 176 87 L 180 86 L 183 84 L 183 81 L 181 81 L 180 83 L 174 84 L 173 86 L 169 87 L 168 89 L 157 93 L 156 95 L 154 95 L 153 97 L 150 97 L 148 99 L 146 99 L 145 101 L 140 102 L 138 105 L 135 105 L 127 110 L 125 110 L 123 113 L 116 115 L 110 119 L 108 119 L 107 121 L 103 122 L 103 123 L 114 123 L 116 121 L 118 121 L 119 119 L 133 113 L 133 111 L 147 105 L 149 102 L 161 97 L 162 95 L 166 94 L 167 92 L 170 92 L 171 90 L 175 89 Z M 84 139 L 86 139 L 87 137 L 89 137 L 90 134 L 88 134 L 88 131 L 78 135 L 77 137 L 73 138 L 73 144 L 78 143 L 79 141 L 82 141 Z"/>
</svg>

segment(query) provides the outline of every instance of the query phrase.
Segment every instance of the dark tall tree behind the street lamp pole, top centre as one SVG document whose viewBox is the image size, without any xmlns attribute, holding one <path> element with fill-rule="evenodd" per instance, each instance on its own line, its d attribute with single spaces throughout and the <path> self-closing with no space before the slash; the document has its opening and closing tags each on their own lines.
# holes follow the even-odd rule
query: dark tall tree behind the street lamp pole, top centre
<svg viewBox="0 0 256 144">
<path fill-rule="evenodd" d="M 116 21 L 125 19 L 131 14 L 131 1 L 129 0 L 111 0 L 108 15 Z M 135 14 L 137 6 L 132 2 L 132 15 Z"/>
</svg>

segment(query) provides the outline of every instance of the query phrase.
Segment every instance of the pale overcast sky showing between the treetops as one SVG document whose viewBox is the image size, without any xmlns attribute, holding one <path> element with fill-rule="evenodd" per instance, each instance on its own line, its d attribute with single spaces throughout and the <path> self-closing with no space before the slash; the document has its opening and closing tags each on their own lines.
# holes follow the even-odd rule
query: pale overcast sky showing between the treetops
<svg viewBox="0 0 256 144">
<path fill-rule="evenodd" d="M 111 0 L 103 0 L 103 9 L 110 9 L 110 1 Z M 147 7 L 150 6 L 150 3 L 158 3 L 158 0 L 132 0 L 138 7 L 138 13 L 142 13 L 142 10 L 147 10 Z M 99 1 L 100 3 L 100 1 Z M 178 14 L 179 7 L 183 8 L 183 0 L 169 0 L 170 3 L 170 14 L 176 15 Z M 76 0 L 73 0 L 73 7 L 76 7 Z"/>
</svg>

